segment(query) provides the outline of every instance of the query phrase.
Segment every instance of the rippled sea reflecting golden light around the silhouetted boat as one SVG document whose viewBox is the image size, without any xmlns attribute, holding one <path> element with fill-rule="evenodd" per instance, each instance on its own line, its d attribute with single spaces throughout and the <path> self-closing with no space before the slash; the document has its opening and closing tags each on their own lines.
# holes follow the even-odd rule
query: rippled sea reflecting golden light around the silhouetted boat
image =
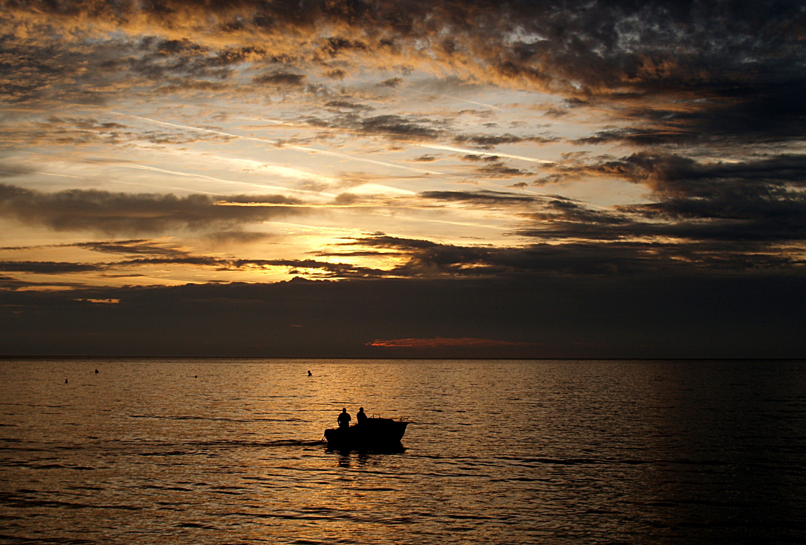
<svg viewBox="0 0 806 545">
<path fill-rule="evenodd" d="M 8 543 L 806 535 L 804 362 L 4 360 L 0 394 Z M 407 450 L 326 451 L 343 406 Z"/>
</svg>

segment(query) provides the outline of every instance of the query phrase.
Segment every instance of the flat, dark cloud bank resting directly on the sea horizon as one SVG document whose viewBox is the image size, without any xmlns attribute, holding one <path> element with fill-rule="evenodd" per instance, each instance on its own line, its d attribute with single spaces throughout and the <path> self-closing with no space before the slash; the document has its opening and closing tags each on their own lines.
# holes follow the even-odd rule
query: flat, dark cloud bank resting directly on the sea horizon
<svg viewBox="0 0 806 545">
<path fill-rule="evenodd" d="M 5 355 L 388 357 L 368 343 L 490 339 L 496 346 L 395 356 L 802 358 L 804 306 L 806 281 L 784 275 L 0 290 L 0 347 Z"/>
</svg>

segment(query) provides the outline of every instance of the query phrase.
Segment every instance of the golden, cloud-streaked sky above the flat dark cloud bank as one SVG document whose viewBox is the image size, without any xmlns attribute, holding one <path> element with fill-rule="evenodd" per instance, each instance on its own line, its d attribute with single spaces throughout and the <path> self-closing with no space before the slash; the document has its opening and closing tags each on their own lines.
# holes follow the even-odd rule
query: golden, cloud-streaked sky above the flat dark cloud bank
<svg viewBox="0 0 806 545">
<path fill-rule="evenodd" d="M 4 0 L 2 14 L 13 289 L 22 272 L 156 265 L 204 280 L 804 262 L 799 2 Z M 122 259 L 44 260 L 23 249 L 32 232 Z M 165 236 L 181 252 L 120 242 Z"/>
</svg>

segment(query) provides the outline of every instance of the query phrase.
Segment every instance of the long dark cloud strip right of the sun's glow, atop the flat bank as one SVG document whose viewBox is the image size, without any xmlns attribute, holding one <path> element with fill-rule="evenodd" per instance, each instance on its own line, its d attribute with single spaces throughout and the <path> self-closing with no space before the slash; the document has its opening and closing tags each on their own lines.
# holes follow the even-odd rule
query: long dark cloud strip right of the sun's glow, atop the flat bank
<svg viewBox="0 0 806 545">
<path fill-rule="evenodd" d="M 629 222 L 626 222 L 629 226 Z M 396 250 L 409 257 L 405 264 L 385 272 L 389 277 L 545 277 L 556 274 L 577 277 L 621 277 L 631 275 L 681 274 L 692 271 L 789 270 L 797 272 L 806 260 L 798 253 L 744 242 L 726 246 L 717 242 L 631 241 L 613 232 L 600 235 L 602 242 L 533 243 L 522 247 L 457 246 L 421 239 L 400 239 L 378 235 L 357 239 L 356 245 Z M 633 231 L 621 226 L 623 232 Z M 557 225 L 524 231 L 550 239 L 587 238 L 596 229 L 587 223 L 558 222 Z M 658 233 L 654 233 L 658 234 Z M 667 235 L 667 233 L 660 233 Z"/>
</svg>

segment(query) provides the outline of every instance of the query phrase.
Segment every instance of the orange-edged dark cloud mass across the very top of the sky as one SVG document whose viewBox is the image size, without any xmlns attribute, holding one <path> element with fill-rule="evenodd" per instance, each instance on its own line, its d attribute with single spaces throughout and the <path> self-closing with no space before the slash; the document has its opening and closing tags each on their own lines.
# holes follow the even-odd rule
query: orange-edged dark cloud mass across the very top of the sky
<svg viewBox="0 0 806 545">
<path fill-rule="evenodd" d="M 800 2 L 3 0 L 2 6 L 6 102 L 50 97 L 99 104 L 118 92 L 110 89 L 147 82 L 160 93 L 220 91 L 247 64 L 265 71 L 256 83 L 299 88 L 312 67 L 339 78 L 351 63 L 405 57 L 449 72 L 463 66 L 469 80 L 558 94 L 563 107 L 548 114 L 611 111 L 618 128 L 578 140 L 585 144 L 775 143 L 802 138 L 806 123 Z M 90 31 L 96 21 L 120 32 L 98 39 Z M 17 27 L 31 39 L 19 37 Z M 225 35 L 228 45 L 207 43 L 210 33 Z M 339 67 L 328 66 L 336 57 Z M 378 85 L 400 82 L 392 77 Z M 408 125 L 376 120 L 368 131 L 434 136 Z M 459 141 L 490 147 L 524 139 Z"/>
</svg>

